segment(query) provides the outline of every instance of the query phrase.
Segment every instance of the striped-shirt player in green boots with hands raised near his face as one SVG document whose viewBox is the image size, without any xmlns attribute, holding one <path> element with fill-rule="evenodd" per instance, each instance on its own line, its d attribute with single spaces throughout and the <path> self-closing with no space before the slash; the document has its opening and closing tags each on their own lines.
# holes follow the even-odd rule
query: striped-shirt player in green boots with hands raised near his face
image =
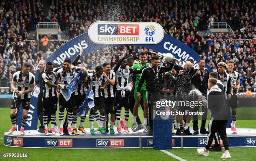
<svg viewBox="0 0 256 161">
<path fill-rule="evenodd" d="M 102 76 L 103 69 L 102 66 L 97 66 L 95 68 L 95 73 L 90 73 L 88 74 L 88 84 L 90 84 L 90 88 L 92 89 L 94 93 L 94 108 L 91 109 L 90 111 L 90 132 L 92 135 L 95 135 L 94 127 L 93 127 L 93 121 L 94 121 L 94 116 L 95 112 L 97 110 L 100 111 L 100 123 L 99 123 L 99 129 L 101 133 L 105 134 L 106 129 L 103 127 L 103 123 L 105 120 L 105 104 L 104 104 L 104 99 L 102 96 L 101 90 L 105 88 L 105 79 Z"/>
</svg>

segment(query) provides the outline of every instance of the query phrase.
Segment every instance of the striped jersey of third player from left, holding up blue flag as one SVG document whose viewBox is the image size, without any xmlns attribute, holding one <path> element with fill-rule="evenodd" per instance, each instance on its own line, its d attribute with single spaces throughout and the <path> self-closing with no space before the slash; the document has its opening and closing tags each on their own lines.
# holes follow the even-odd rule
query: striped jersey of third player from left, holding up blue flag
<svg viewBox="0 0 256 161">
<path fill-rule="evenodd" d="M 59 83 L 69 83 L 80 70 L 81 68 L 77 66 L 72 66 L 67 72 L 64 71 L 64 68 L 59 69 L 56 73 L 57 78 L 59 78 Z"/>
</svg>

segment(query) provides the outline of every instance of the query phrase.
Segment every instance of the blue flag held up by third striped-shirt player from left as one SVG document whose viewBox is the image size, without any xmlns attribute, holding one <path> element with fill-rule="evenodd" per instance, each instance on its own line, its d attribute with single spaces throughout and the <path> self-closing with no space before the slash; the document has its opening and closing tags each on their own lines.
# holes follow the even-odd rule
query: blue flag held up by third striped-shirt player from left
<svg viewBox="0 0 256 161">
<path fill-rule="evenodd" d="M 69 88 L 65 88 L 65 89 L 61 89 L 60 93 L 62 93 L 62 96 L 65 98 L 66 101 L 69 100 L 69 98 L 71 97 L 71 94 L 74 92 L 74 88 L 76 86 L 77 83 L 77 78 L 82 74 L 82 70 L 80 70 L 77 75 L 66 85 L 69 86 Z"/>
</svg>

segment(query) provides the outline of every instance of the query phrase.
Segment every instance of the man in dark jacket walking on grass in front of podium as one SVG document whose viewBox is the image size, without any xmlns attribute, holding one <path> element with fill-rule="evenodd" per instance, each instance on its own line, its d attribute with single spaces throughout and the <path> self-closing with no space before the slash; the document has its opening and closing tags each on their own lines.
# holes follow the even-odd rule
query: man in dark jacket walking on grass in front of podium
<svg viewBox="0 0 256 161">
<path fill-rule="evenodd" d="M 203 156 L 209 156 L 209 149 L 212 144 L 213 137 L 215 136 L 216 131 L 218 131 L 225 147 L 225 153 L 223 153 L 221 158 L 231 158 L 228 151 L 228 138 L 226 133 L 228 113 L 225 106 L 225 99 L 223 98 L 223 93 L 216 84 L 216 78 L 209 78 L 207 107 L 211 111 L 211 119 L 208 126 L 209 132 L 207 137 L 207 145 L 205 146 L 205 148 L 197 148 L 197 152 L 202 154 Z"/>
</svg>

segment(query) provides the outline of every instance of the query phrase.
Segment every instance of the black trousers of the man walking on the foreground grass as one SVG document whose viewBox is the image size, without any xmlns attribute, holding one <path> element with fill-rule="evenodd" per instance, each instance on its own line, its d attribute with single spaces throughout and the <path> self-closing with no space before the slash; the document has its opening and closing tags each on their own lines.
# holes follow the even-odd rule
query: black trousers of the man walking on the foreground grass
<svg viewBox="0 0 256 161">
<path fill-rule="evenodd" d="M 213 137 L 216 135 L 217 131 L 220 134 L 220 138 L 223 141 L 225 151 L 228 150 L 228 138 L 226 133 L 227 122 L 228 120 L 214 120 L 213 117 L 210 119 L 206 143 L 207 145 L 205 146 L 207 150 L 210 148 L 213 141 Z"/>
</svg>

